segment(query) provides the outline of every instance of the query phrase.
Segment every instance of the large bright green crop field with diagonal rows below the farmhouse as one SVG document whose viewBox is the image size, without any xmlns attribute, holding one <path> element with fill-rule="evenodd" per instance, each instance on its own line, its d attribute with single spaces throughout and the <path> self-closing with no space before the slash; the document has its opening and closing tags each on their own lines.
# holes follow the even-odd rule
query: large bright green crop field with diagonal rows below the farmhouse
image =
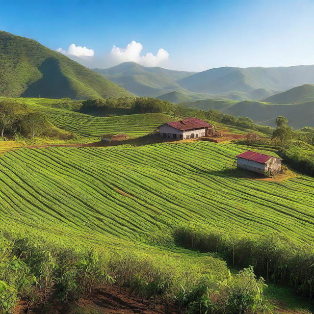
<svg viewBox="0 0 314 314">
<path fill-rule="evenodd" d="M 314 179 L 245 179 L 233 169 L 246 149 L 198 141 L 7 152 L 0 219 L 106 245 L 190 221 L 311 240 Z"/>
</svg>

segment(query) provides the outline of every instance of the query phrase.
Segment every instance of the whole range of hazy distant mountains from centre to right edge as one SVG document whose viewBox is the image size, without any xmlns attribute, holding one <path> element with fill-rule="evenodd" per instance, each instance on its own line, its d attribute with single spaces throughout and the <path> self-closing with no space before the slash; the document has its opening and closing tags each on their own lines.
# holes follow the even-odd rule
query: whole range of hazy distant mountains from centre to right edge
<svg viewBox="0 0 314 314">
<path fill-rule="evenodd" d="M 224 67 L 195 73 L 125 62 L 109 69 L 93 70 L 139 96 L 161 97 L 166 94 L 164 97 L 172 97 L 167 94 L 179 92 L 185 94 L 188 101 L 188 96 L 200 93 L 215 98 L 260 100 L 298 85 L 314 84 L 314 65 Z"/>
</svg>

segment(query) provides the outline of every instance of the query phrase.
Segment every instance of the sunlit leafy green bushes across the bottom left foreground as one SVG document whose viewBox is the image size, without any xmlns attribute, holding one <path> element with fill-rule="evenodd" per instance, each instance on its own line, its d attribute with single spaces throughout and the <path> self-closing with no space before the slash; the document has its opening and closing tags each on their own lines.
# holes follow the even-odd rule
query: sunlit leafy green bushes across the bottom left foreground
<svg viewBox="0 0 314 314">
<path fill-rule="evenodd" d="M 253 267 L 231 276 L 223 262 L 219 275 L 184 268 L 170 257 L 62 247 L 32 235 L 0 234 L 0 313 L 12 313 L 18 300 L 47 311 L 53 303 L 74 303 L 95 289 L 118 285 L 129 295 L 176 303 L 179 313 L 269 313 L 262 299 L 264 282 Z M 212 258 L 211 258 L 212 259 Z M 210 263 L 208 264 L 210 267 Z M 217 274 L 217 269 L 214 272 Z"/>
</svg>

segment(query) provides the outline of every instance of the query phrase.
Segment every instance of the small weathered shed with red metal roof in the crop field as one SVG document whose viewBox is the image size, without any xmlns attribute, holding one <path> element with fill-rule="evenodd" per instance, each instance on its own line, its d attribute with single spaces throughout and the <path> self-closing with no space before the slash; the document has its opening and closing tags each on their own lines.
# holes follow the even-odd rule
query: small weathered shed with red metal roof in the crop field
<svg viewBox="0 0 314 314">
<path fill-rule="evenodd" d="M 274 175 L 281 172 L 281 158 L 252 151 L 247 151 L 236 157 L 239 168 L 262 173 L 263 175 Z"/>
</svg>

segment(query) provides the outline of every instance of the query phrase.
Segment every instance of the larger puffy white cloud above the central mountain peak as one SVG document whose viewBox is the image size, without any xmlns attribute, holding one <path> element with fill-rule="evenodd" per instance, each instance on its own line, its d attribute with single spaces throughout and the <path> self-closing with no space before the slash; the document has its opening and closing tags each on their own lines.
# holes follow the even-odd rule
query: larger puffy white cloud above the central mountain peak
<svg viewBox="0 0 314 314">
<path fill-rule="evenodd" d="M 134 61 L 148 67 L 157 66 L 169 59 L 169 53 L 162 48 L 158 50 L 156 55 L 152 52 L 147 52 L 145 55 L 141 55 L 142 50 L 143 45 L 132 40 L 126 48 L 113 46 L 110 56 L 115 63 Z"/>
</svg>

